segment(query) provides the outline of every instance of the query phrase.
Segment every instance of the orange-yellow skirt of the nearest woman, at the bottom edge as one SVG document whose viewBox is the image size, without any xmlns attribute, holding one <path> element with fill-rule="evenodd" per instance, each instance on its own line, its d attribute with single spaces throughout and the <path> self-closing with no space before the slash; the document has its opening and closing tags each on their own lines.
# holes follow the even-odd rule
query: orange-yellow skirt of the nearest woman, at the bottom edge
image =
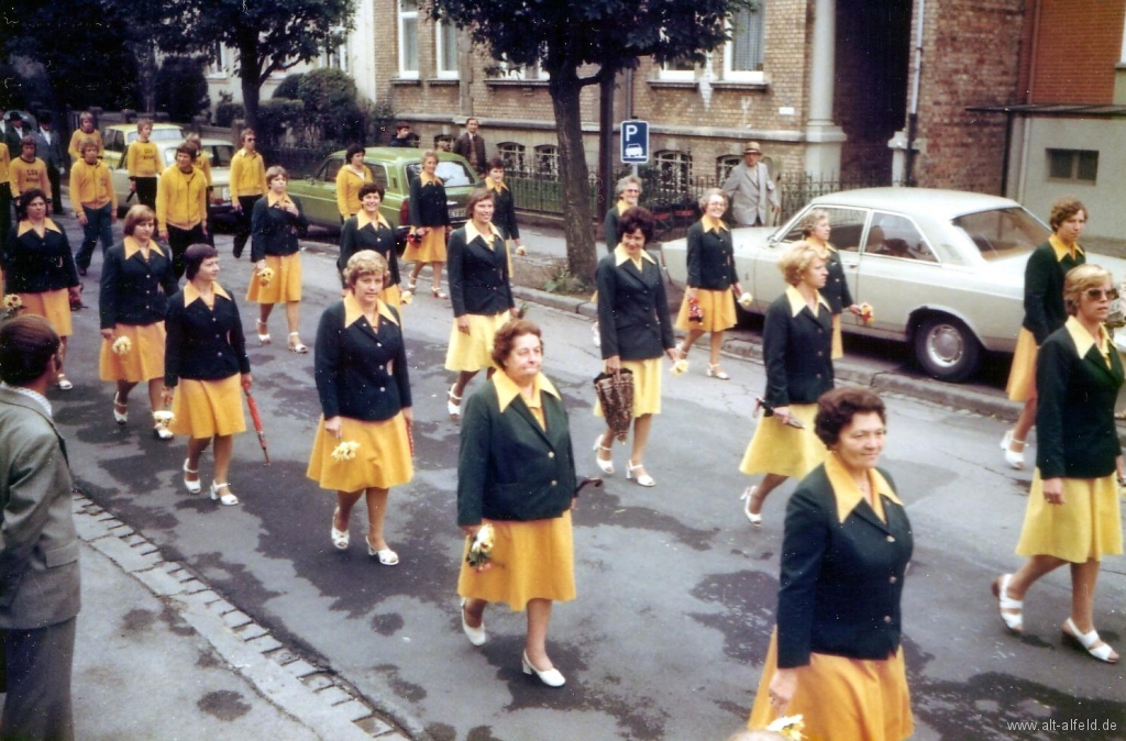
<svg viewBox="0 0 1126 741">
<path fill-rule="evenodd" d="M 770 639 L 759 691 L 747 727 L 758 730 L 777 720 L 770 707 L 770 680 L 778 666 L 778 631 Z M 886 660 L 810 654 L 797 667 L 797 691 L 786 715 L 801 715 L 808 741 L 902 741 L 914 733 L 903 646 Z"/>
</svg>

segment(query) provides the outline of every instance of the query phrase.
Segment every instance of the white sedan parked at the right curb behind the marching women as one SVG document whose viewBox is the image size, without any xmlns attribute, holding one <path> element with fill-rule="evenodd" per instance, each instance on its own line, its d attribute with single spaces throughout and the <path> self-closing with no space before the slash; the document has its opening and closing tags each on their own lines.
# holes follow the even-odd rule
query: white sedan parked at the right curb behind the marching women
<svg viewBox="0 0 1126 741">
<path fill-rule="evenodd" d="M 1024 319 L 1025 264 L 1051 230 L 1016 200 L 957 190 L 869 188 L 814 198 L 780 229 L 733 230 L 735 267 L 750 311 L 781 295 L 779 255 L 802 239 L 813 208 L 829 213 L 852 298 L 873 307 L 870 324 L 846 312 L 846 332 L 910 342 L 919 365 L 941 381 L 969 377 L 982 348 L 1012 352 Z M 685 240 L 662 247 L 673 283 L 687 277 Z M 1088 255 L 1115 280 L 1126 260 Z"/>
</svg>

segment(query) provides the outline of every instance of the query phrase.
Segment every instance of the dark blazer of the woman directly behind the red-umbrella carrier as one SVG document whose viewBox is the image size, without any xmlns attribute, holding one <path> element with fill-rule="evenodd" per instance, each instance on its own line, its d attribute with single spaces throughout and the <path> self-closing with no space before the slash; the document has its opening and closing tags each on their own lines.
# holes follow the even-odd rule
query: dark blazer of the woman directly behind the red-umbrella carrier
<svg viewBox="0 0 1126 741">
<path fill-rule="evenodd" d="M 133 238 L 125 239 L 135 245 Z M 155 242 L 150 244 L 148 260 L 135 247 L 132 249 L 136 251 L 126 258 L 125 242 L 106 251 L 98 294 L 101 329 L 113 329 L 115 324 L 143 327 L 164 321 L 168 297 L 178 291 L 179 285 L 164 248 Z"/>
</svg>

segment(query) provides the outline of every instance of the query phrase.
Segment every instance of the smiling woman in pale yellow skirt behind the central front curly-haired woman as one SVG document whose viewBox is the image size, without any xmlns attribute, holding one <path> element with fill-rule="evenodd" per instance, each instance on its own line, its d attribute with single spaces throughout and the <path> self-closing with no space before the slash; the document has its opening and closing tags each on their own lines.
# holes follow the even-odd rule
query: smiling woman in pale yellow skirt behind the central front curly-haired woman
<svg viewBox="0 0 1126 741">
<path fill-rule="evenodd" d="M 473 376 L 490 373 L 493 336 L 511 318 L 516 305 L 508 276 L 504 238 L 492 224 L 493 195 L 484 188 L 470 194 L 470 221 L 449 238 L 449 295 L 454 325 L 449 330 L 446 369 L 456 370 L 446 411 L 461 416 L 462 395 Z"/>
</svg>

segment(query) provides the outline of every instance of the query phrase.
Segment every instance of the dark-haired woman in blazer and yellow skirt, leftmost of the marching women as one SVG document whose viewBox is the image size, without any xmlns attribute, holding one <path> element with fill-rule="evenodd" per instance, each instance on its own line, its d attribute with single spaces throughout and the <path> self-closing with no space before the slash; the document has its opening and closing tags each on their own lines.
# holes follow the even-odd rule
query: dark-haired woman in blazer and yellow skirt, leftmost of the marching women
<svg viewBox="0 0 1126 741">
<path fill-rule="evenodd" d="M 17 294 L 24 312 L 45 316 L 59 334 L 59 376 L 55 386 L 70 391 L 74 384 L 63 373 L 66 343 L 73 334 L 71 303 L 79 301 L 78 268 L 66 231 L 47 218 L 47 194 L 38 188 L 19 198 L 24 213 L 8 236 L 3 266 L 5 293 Z"/>
</svg>

